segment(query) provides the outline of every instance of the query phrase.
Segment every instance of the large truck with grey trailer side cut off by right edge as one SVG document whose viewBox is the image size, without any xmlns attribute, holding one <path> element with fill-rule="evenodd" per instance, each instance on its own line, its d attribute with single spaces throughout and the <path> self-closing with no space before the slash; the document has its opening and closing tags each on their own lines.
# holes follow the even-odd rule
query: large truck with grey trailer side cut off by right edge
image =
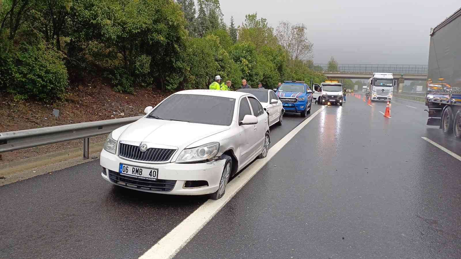
<svg viewBox="0 0 461 259">
<path fill-rule="evenodd" d="M 431 29 L 427 125 L 461 138 L 461 8 Z"/>
</svg>

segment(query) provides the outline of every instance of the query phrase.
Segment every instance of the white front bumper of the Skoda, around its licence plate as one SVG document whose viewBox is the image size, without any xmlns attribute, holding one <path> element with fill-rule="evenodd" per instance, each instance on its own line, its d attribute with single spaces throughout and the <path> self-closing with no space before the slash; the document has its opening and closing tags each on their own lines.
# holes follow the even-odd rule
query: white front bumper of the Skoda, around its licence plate
<svg viewBox="0 0 461 259">
<path fill-rule="evenodd" d="M 111 182 L 114 185 L 122 186 L 124 188 L 162 194 L 202 195 L 214 193 L 218 190 L 219 181 L 221 180 L 225 164 L 224 159 L 197 164 L 148 164 L 125 160 L 118 157 L 117 155 L 107 152 L 106 150 L 101 151 L 100 157 L 100 165 L 106 172 L 105 174 L 101 172 L 101 177 L 106 181 Z M 120 163 L 143 168 L 158 169 L 159 181 L 155 182 L 153 180 L 149 180 L 150 182 L 154 183 L 142 182 L 138 185 L 138 181 L 125 180 L 123 176 L 118 178 L 118 176 L 120 176 L 118 173 Z M 129 181 L 129 184 L 126 184 L 127 181 Z M 185 188 L 184 184 L 186 181 L 207 181 L 208 186 Z M 166 186 L 168 188 L 164 188 L 166 191 L 156 191 L 142 187 L 146 185 Z"/>
</svg>

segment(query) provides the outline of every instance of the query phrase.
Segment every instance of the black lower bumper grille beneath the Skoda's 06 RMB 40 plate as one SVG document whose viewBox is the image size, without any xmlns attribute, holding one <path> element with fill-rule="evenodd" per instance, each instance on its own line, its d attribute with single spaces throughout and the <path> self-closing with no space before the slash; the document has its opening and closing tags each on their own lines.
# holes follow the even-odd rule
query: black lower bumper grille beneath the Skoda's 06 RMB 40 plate
<svg viewBox="0 0 461 259">
<path fill-rule="evenodd" d="M 176 180 L 147 180 L 147 179 L 138 179 L 136 177 L 120 175 L 120 173 L 112 170 L 109 171 L 109 179 L 113 183 L 118 185 L 137 188 L 140 190 L 150 190 L 156 192 L 169 192 L 171 191 L 175 184 Z"/>
</svg>

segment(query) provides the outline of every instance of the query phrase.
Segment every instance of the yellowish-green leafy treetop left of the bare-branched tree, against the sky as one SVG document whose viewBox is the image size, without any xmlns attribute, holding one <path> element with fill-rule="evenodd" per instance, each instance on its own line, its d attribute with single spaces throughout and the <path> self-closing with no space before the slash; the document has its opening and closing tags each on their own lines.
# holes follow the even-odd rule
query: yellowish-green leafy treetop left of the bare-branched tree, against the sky
<svg viewBox="0 0 461 259">
<path fill-rule="evenodd" d="M 239 41 L 251 42 L 259 50 L 262 46 L 277 46 L 274 29 L 269 26 L 265 18 L 258 19 L 258 14 L 245 15 L 245 23 L 238 29 Z"/>
</svg>

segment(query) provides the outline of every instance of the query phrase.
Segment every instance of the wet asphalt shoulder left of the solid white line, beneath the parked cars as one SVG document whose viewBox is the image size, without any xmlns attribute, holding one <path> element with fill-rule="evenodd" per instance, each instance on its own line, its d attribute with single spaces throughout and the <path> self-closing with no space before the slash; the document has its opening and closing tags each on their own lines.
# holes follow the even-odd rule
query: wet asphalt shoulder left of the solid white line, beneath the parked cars
<svg viewBox="0 0 461 259">
<path fill-rule="evenodd" d="M 304 119 L 287 113 L 271 145 Z M 100 171 L 95 160 L 1 186 L 0 258 L 136 258 L 207 200 L 118 188 Z"/>
</svg>

